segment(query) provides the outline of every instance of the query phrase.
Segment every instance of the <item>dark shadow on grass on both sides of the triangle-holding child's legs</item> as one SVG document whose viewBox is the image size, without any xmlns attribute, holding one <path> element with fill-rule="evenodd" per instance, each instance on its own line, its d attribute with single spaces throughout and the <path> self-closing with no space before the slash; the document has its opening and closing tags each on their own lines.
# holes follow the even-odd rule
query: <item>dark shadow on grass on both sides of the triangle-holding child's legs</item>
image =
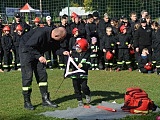
<svg viewBox="0 0 160 120">
<path fill-rule="evenodd" d="M 93 99 L 91 104 L 96 105 L 98 103 L 101 103 L 102 101 L 109 101 L 109 100 L 115 100 L 115 99 L 121 99 L 124 98 L 124 94 L 114 91 L 92 91 L 91 96 L 97 96 L 96 99 Z M 68 95 L 63 96 L 61 98 L 57 98 L 54 100 L 57 104 L 75 99 L 74 95 Z"/>
</svg>

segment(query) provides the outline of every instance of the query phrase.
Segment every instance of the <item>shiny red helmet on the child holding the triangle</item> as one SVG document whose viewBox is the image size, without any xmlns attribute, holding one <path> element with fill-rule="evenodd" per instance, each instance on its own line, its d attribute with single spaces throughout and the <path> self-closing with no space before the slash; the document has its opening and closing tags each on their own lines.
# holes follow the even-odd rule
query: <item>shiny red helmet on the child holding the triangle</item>
<svg viewBox="0 0 160 120">
<path fill-rule="evenodd" d="M 87 51 L 88 49 L 88 42 L 86 39 L 81 38 L 76 41 L 76 47 L 80 48 L 82 51 Z"/>
</svg>

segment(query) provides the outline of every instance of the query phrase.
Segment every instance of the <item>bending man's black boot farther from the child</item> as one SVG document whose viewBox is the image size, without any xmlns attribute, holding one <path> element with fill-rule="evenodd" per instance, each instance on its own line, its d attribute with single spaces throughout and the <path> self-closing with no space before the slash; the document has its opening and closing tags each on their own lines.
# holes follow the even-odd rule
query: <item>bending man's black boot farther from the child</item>
<svg viewBox="0 0 160 120">
<path fill-rule="evenodd" d="M 28 110 L 34 110 L 34 107 L 30 100 L 30 96 L 24 96 L 24 108 Z"/>
</svg>

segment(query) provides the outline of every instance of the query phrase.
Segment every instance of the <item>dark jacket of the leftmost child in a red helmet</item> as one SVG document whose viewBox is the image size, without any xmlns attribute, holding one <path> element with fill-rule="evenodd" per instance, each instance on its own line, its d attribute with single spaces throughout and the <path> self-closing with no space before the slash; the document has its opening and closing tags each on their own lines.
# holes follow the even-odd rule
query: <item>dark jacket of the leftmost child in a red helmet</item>
<svg viewBox="0 0 160 120">
<path fill-rule="evenodd" d="M 4 35 L 1 38 L 2 48 L 6 52 L 10 52 L 10 50 L 13 48 L 13 40 L 10 35 Z"/>
</svg>

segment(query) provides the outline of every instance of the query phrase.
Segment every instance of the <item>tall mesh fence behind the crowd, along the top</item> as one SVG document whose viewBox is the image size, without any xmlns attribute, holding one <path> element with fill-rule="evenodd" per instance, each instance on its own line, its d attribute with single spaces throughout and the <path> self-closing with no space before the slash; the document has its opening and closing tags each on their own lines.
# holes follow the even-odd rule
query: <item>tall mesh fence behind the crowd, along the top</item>
<svg viewBox="0 0 160 120">
<path fill-rule="evenodd" d="M 13 16 L 9 16 L 8 12 L 13 13 L 14 8 L 21 8 L 27 2 L 33 9 L 42 9 L 43 17 L 50 15 L 56 22 L 60 20 L 59 13 L 65 7 L 85 7 L 85 9 L 99 11 L 101 16 L 107 12 L 111 17 L 117 18 L 121 15 L 129 17 L 132 11 L 140 16 L 140 12 L 144 9 L 149 12 L 152 19 L 159 18 L 160 15 L 160 0 L 1 0 L 0 13 L 10 22 Z M 66 12 L 68 13 L 70 12 Z M 40 13 L 34 14 L 34 16 L 40 15 Z M 28 17 L 28 19 L 32 18 Z"/>
</svg>

